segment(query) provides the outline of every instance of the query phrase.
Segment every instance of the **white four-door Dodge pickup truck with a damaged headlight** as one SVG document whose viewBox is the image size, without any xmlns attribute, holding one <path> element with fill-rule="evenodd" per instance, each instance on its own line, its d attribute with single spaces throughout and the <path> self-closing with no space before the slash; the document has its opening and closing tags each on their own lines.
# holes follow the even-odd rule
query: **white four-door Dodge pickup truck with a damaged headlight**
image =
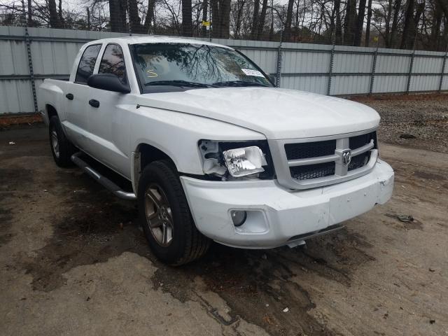
<svg viewBox="0 0 448 336">
<path fill-rule="evenodd" d="M 69 80 L 45 79 L 38 99 L 57 165 L 75 163 L 119 197 L 137 199 L 153 253 L 172 265 L 199 258 L 211 240 L 297 246 L 392 194 L 376 111 L 276 88 L 225 45 L 92 41 Z M 86 155 L 132 191 L 99 174 Z"/>
</svg>

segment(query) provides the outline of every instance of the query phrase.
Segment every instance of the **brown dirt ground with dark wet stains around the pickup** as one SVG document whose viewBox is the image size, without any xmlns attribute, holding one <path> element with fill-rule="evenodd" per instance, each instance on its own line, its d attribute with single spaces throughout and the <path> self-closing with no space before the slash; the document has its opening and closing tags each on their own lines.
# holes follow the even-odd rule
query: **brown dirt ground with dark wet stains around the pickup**
<svg viewBox="0 0 448 336">
<path fill-rule="evenodd" d="M 59 169 L 47 138 L 0 132 L 0 335 L 448 335 L 446 153 L 381 144 L 384 206 L 306 248 L 172 268 L 134 203 Z"/>
</svg>

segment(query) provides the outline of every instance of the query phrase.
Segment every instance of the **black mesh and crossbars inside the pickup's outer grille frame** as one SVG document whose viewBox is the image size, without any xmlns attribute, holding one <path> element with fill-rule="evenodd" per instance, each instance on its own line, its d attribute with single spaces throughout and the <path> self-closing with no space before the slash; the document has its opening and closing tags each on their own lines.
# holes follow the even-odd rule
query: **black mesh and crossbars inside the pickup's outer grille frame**
<svg viewBox="0 0 448 336">
<path fill-rule="evenodd" d="M 367 132 L 352 137 L 342 135 L 324 141 L 283 143 L 283 148 L 290 178 L 297 183 L 306 183 L 306 186 L 302 188 L 311 188 L 314 179 L 327 178 L 318 181 L 321 181 L 319 183 L 323 183 L 322 181 L 335 183 L 335 180 L 347 174 L 352 176 L 356 174 L 356 169 L 368 165 L 372 151 L 377 148 L 377 132 Z M 351 150 L 351 161 L 348 165 L 344 165 L 342 154 L 348 150 Z"/>
</svg>

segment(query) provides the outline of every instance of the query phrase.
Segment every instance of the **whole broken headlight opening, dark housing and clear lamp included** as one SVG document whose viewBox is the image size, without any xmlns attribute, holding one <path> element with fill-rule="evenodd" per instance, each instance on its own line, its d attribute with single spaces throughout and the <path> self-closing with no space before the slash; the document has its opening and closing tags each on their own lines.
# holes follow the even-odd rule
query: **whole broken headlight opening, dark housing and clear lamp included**
<svg viewBox="0 0 448 336">
<path fill-rule="evenodd" d="M 232 179 L 273 179 L 274 168 L 267 141 L 199 141 L 204 173 Z"/>
</svg>

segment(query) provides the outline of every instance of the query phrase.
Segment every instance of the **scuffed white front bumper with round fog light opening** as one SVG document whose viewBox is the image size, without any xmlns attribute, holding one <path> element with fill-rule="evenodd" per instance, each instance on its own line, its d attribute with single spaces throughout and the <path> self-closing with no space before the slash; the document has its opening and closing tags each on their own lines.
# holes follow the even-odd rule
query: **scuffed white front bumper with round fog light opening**
<svg viewBox="0 0 448 336">
<path fill-rule="evenodd" d="M 309 190 L 288 190 L 275 181 L 204 181 L 181 176 L 190 210 L 202 234 L 241 248 L 294 245 L 331 231 L 392 195 L 393 169 L 377 160 L 369 174 Z M 230 211 L 247 212 L 235 227 Z"/>
</svg>

